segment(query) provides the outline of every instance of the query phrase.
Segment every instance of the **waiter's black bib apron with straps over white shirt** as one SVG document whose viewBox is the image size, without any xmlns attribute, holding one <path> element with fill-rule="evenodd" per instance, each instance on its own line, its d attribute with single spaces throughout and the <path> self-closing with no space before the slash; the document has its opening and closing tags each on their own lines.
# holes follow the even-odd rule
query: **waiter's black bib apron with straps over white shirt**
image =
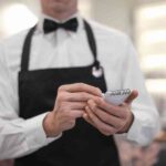
<svg viewBox="0 0 166 166">
<path fill-rule="evenodd" d="M 87 66 L 29 71 L 32 28 L 24 41 L 19 73 L 20 116 L 30 118 L 53 110 L 58 89 L 63 84 L 86 83 L 106 91 L 104 73 L 96 58 L 96 44 L 90 24 L 84 21 L 94 62 Z M 96 71 L 95 71 L 96 69 Z M 98 71 L 97 71 L 98 70 Z M 92 72 L 93 71 L 93 72 Z M 93 74 L 92 74 L 93 73 Z M 95 76 L 94 76 L 95 75 Z M 83 118 L 74 128 L 39 151 L 15 159 L 15 166 L 120 166 L 113 136 L 105 136 Z"/>
</svg>

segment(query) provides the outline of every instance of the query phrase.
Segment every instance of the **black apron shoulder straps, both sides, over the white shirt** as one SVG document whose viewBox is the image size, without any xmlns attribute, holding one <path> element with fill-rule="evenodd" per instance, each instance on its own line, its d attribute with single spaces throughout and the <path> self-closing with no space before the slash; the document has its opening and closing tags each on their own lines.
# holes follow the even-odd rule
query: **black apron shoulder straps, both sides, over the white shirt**
<svg viewBox="0 0 166 166">
<path fill-rule="evenodd" d="M 84 20 L 84 25 L 85 25 L 85 31 L 86 31 L 86 35 L 87 35 L 87 41 L 89 41 L 89 45 L 91 48 L 93 58 L 94 58 L 94 63 L 93 65 L 96 69 L 100 69 L 100 62 L 97 60 L 97 51 L 96 51 L 96 43 L 95 43 L 95 38 L 92 31 L 91 25 Z M 23 50 L 22 50 L 22 59 L 21 59 L 21 71 L 28 71 L 29 70 L 29 60 L 30 60 L 30 51 L 31 51 L 31 41 L 32 41 L 32 35 L 35 31 L 37 25 L 32 27 L 24 40 L 24 44 L 23 44 Z"/>
</svg>

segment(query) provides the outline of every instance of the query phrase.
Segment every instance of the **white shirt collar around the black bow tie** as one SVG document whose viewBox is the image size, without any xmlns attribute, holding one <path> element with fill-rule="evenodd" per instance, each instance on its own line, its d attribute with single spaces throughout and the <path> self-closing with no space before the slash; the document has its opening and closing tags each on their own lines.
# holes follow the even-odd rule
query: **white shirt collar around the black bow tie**
<svg viewBox="0 0 166 166">
<path fill-rule="evenodd" d="M 84 28 L 84 23 L 83 23 L 83 18 L 81 17 L 81 14 L 79 12 L 74 13 L 73 15 L 71 15 L 70 18 L 63 20 L 63 21 L 60 21 L 58 19 L 54 19 L 50 15 L 46 15 L 44 13 L 42 13 L 40 17 L 39 17 L 39 22 L 38 22 L 38 25 L 37 25 L 37 32 L 39 33 L 43 33 L 43 22 L 44 22 L 44 19 L 50 19 L 50 20 L 53 20 L 55 22 L 65 22 L 72 18 L 76 18 L 77 19 L 77 22 L 79 22 L 79 27 L 77 27 L 77 32 L 81 31 L 83 28 Z"/>
</svg>

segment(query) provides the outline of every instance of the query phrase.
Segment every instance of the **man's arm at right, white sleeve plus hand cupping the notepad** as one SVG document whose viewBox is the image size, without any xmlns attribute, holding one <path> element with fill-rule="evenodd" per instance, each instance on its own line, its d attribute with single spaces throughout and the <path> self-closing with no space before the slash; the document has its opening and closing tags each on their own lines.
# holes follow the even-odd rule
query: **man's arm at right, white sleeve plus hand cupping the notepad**
<svg viewBox="0 0 166 166">
<path fill-rule="evenodd" d="M 144 85 L 136 53 L 129 40 L 126 40 L 126 53 L 123 59 L 122 89 L 136 89 L 127 101 L 120 106 L 106 103 L 102 98 L 89 101 L 84 118 L 104 135 L 127 133 L 129 141 L 146 145 L 152 142 L 159 128 L 158 113 Z M 133 102 L 134 101 L 134 102 Z"/>
</svg>

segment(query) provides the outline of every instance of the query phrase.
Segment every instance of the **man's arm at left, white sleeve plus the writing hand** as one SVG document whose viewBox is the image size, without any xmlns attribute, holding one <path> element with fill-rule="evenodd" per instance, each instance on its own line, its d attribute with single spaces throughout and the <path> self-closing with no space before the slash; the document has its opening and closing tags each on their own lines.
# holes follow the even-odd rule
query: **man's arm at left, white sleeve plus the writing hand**
<svg viewBox="0 0 166 166">
<path fill-rule="evenodd" d="M 64 85 L 59 89 L 52 112 L 20 118 L 13 91 L 15 84 L 4 55 L 0 48 L 0 159 L 28 155 L 59 138 L 63 131 L 74 127 L 87 100 L 102 95 L 98 89 L 90 85 Z"/>
</svg>

